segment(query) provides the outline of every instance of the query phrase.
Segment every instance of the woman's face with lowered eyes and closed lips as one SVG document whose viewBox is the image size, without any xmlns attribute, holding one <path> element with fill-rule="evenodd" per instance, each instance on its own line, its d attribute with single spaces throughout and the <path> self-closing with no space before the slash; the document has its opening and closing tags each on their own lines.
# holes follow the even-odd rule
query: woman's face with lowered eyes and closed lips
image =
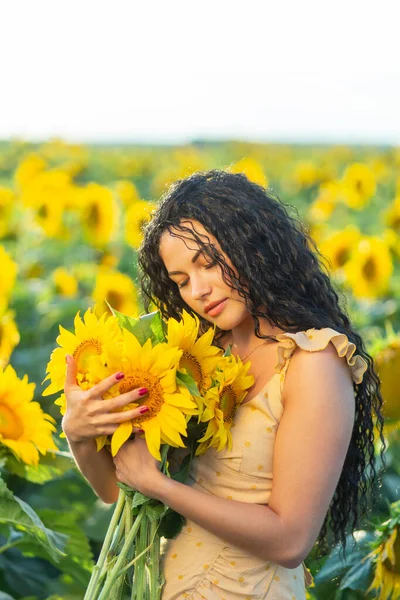
<svg viewBox="0 0 400 600">
<path fill-rule="evenodd" d="M 234 270 L 231 261 L 222 252 L 216 238 L 208 233 L 198 221 L 182 221 L 185 227 L 195 228 L 205 243 L 213 244 L 223 255 L 225 262 Z M 172 230 L 174 231 L 174 230 Z M 236 290 L 224 283 L 221 268 L 213 264 L 211 258 L 203 255 L 195 239 L 187 232 L 174 231 L 185 236 L 185 240 L 172 236 L 165 231 L 160 241 L 160 256 L 172 281 L 179 289 L 182 299 L 201 317 L 216 323 L 222 330 L 229 331 L 237 327 L 251 316 L 246 309 L 243 298 Z M 189 239 L 188 239 L 189 238 Z M 219 303 L 213 310 L 212 306 Z"/>
</svg>

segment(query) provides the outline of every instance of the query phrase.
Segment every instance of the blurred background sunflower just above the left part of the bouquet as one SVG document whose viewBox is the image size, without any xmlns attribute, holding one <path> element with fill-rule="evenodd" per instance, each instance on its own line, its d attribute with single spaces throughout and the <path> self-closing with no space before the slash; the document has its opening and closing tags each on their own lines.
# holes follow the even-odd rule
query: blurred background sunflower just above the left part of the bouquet
<svg viewBox="0 0 400 600">
<path fill-rule="evenodd" d="M 128 275 L 109 269 L 99 269 L 93 291 L 93 300 L 98 314 L 109 311 L 105 303 L 107 300 L 118 312 L 135 317 L 138 313 L 136 296 L 135 284 Z"/>
</svg>

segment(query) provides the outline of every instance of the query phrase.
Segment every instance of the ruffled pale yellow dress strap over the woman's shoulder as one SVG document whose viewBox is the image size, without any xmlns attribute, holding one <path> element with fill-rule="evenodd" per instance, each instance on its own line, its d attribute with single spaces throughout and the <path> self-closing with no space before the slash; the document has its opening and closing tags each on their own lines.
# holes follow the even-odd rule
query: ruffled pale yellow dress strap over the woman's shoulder
<svg viewBox="0 0 400 600">
<path fill-rule="evenodd" d="M 299 331 L 298 333 L 281 333 L 276 338 L 279 345 L 275 371 L 283 376 L 289 365 L 290 357 L 296 348 L 302 348 L 308 352 L 318 352 L 318 350 L 324 350 L 329 342 L 334 345 L 338 356 L 346 358 L 355 384 L 362 382 L 363 375 L 368 368 L 366 360 L 359 354 L 355 354 L 355 344 L 349 342 L 344 333 L 339 333 L 330 327 L 307 329 L 307 331 Z"/>
</svg>

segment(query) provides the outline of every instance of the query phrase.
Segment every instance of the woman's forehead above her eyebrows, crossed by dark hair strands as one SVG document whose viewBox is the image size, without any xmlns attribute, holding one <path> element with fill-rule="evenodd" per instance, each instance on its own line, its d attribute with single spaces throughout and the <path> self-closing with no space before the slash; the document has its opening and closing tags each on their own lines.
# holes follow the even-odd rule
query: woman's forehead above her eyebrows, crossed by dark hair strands
<svg viewBox="0 0 400 600">
<path fill-rule="evenodd" d="M 216 238 L 198 221 L 182 221 L 181 224 L 187 227 L 189 231 L 180 231 L 171 227 L 170 231 L 164 231 L 161 236 L 160 256 L 164 262 L 174 256 L 178 257 L 186 253 L 192 254 L 199 249 L 199 244 L 191 232 L 195 232 L 204 244 L 211 243 L 218 246 Z"/>
</svg>

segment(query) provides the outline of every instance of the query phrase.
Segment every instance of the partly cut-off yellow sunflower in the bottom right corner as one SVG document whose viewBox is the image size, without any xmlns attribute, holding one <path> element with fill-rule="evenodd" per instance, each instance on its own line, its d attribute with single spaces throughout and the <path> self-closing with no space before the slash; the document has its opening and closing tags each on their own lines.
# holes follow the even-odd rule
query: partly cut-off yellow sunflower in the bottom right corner
<svg viewBox="0 0 400 600">
<path fill-rule="evenodd" d="M 400 598 L 400 531 L 399 525 L 373 552 L 376 557 L 374 579 L 367 592 L 376 590 L 377 600 Z"/>
</svg>

